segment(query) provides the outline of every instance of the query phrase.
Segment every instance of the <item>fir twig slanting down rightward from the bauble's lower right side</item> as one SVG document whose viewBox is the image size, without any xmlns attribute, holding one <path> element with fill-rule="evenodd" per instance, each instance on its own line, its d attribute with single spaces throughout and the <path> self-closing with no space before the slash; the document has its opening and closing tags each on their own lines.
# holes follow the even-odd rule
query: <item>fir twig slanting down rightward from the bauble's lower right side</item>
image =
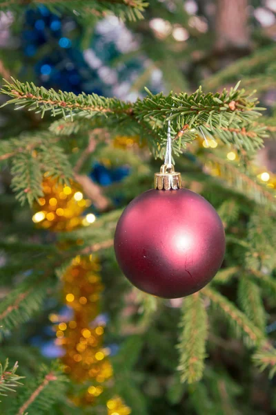
<svg viewBox="0 0 276 415">
<path fill-rule="evenodd" d="M 213 288 L 204 288 L 201 292 L 221 311 L 222 315 L 226 317 L 226 320 L 235 329 L 236 335 L 243 337 L 246 340 L 246 344 L 257 346 L 266 341 L 264 333 L 250 322 L 248 317 L 226 297 L 213 290 Z"/>
</svg>

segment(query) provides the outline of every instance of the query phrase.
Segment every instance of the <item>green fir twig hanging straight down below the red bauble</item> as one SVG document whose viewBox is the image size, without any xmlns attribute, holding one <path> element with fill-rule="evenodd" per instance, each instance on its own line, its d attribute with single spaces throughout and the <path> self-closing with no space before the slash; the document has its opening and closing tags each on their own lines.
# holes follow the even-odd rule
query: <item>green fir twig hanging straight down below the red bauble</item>
<svg viewBox="0 0 276 415">
<path fill-rule="evenodd" d="M 200 293 L 184 299 L 182 313 L 177 369 L 181 372 L 182 382 L 193 383 L 200 380 L 203 374 L 208 335 L 207 313 Z"/>
</svg>

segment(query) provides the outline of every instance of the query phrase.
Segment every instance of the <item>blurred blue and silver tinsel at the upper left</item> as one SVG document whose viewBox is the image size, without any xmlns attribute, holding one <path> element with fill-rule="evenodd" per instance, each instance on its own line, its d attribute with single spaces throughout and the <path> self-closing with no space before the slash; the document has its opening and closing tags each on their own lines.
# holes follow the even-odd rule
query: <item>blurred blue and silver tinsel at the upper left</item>
<svg viewBox="0 0 276 415">
<path fill-rule="evenodd" d="M 21 49 L 25 56 L 22 79 L 34 68 L 37 83 L 46 88 L 75 94 L 83 91 L 104 96 L 117 95 L 123 99 L 135 99 L 137 95 L 142 95 L 144 92 L 130 92 L 130 87 L 144 71 L 143 59 L 123 59 L 113 67 L 112 61 L 132 50 L 133 39 L 126 26 L 119 21 L 117 25 L 115 20 L 110 24 L 108 19 L 101 20 L 95 26 L 90 45 L 82 50 L 82 29 L 74 17 L 56 15 L 43 5 L 28 8 L 21 33 Z M 133 45 L 137 48 L 135 42 Z M 153 93 L 162 89 L 154 82 L 148 86 Z M 105 185 L 109 184 L 107 176 L 101 179 Z"/>
</svg>

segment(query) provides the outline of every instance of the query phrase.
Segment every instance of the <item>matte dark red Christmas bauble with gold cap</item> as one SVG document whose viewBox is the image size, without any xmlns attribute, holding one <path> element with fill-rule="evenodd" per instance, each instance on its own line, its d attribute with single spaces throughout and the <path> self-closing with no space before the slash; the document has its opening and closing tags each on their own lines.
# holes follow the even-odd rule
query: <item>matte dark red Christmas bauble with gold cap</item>
<svg viewBox="0 0 276 415">
<path fill-rule="evenodd" d="M 181 176 L 163 165 L 155 189 L 137 196 L 115 232 L 124 275 L 141 291 L 164 298 L 199 291 L 224 259 L 224 227 L 212 205 L 181 189 Z"/>
</svg>

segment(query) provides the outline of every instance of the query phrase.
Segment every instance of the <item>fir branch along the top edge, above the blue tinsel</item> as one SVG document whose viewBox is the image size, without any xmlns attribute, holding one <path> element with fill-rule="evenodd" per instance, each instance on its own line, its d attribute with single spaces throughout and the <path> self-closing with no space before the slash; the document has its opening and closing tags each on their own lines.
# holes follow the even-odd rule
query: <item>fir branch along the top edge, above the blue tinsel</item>
<svg viewBox="0 0 276 415">
<path fill-rule="evenodd" d="M 143 19 L 142 13 L 148 6 L 144 0 L 28 0 L 27 3 L 32 7 L 45 4 L 57 14 L 74 10 L 75 15 L 82 19 L 113 14 L 130 21 Z M 26 0 L 0 0 L 0 10 L 20 12 L 27 3 Z"/>
</svg>

